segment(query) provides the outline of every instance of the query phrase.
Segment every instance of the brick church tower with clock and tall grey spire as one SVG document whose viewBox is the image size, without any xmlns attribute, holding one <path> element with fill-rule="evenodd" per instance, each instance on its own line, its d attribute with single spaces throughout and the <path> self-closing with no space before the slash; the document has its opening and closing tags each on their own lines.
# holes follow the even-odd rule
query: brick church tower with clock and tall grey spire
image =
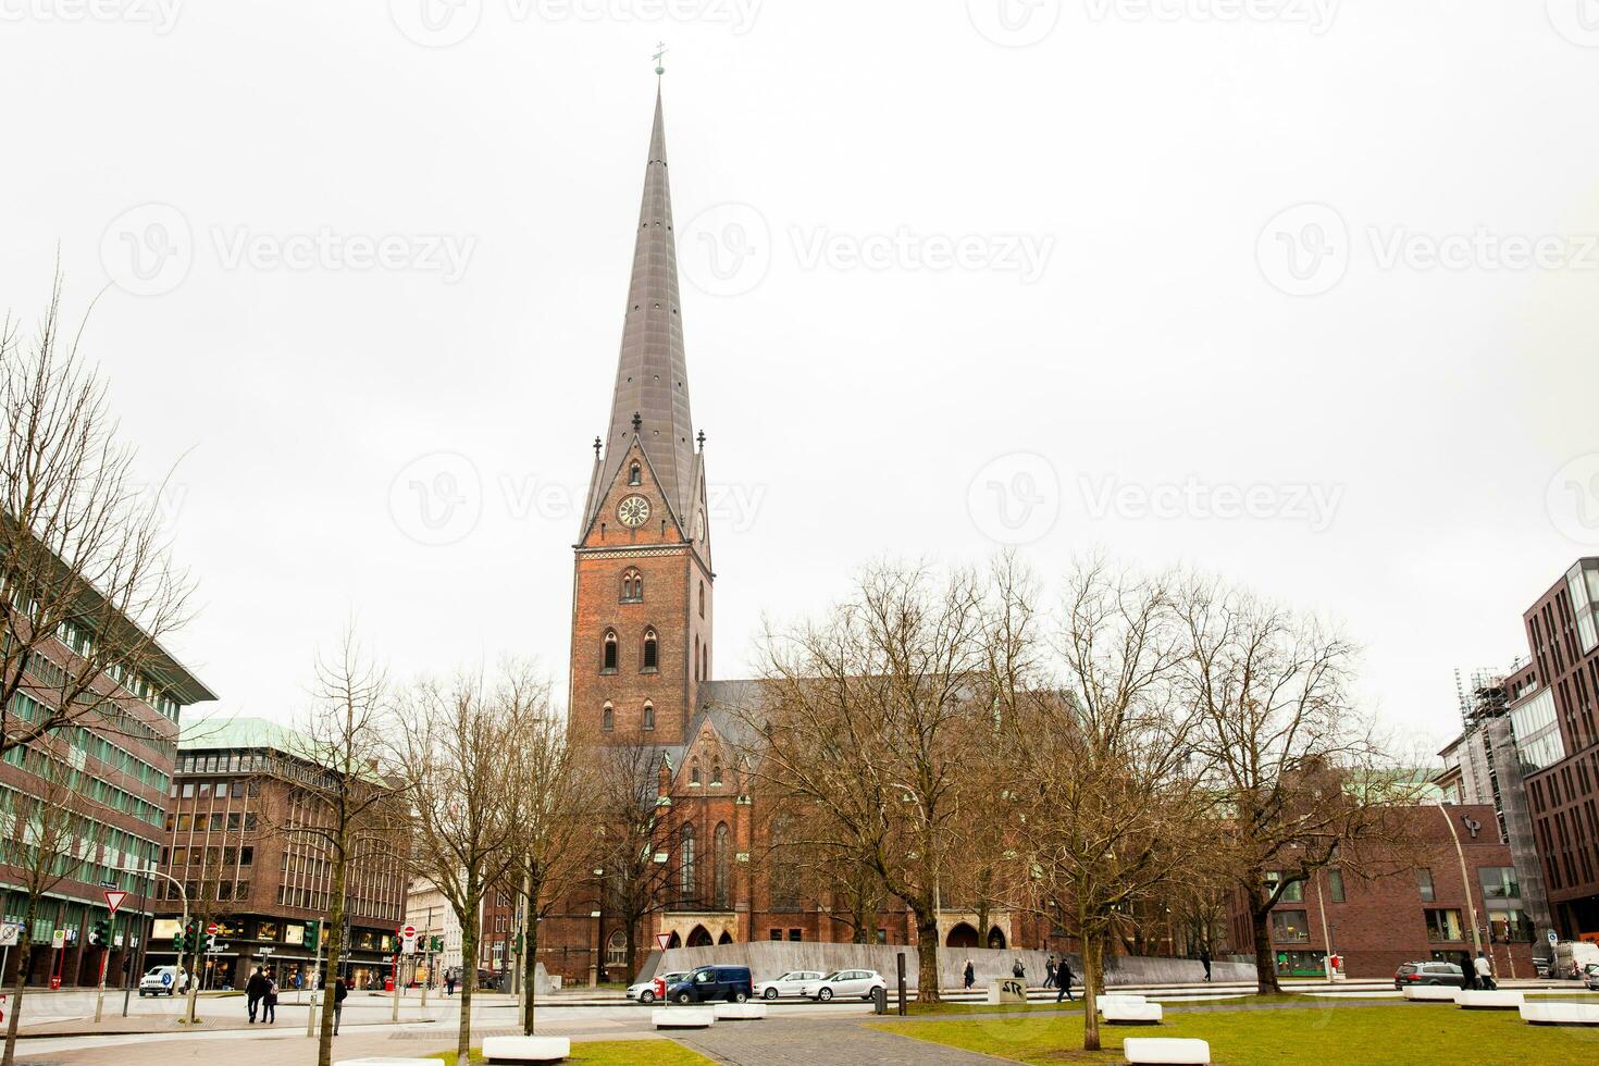
<svg viewBox="0 0 1599 1066">
<path fill-rule="evenodd" d="M 595 438 L 574 545 L 569 708 L 580 740 L 684 743 L 710 679 L 708 537 L 657 89 L 611 424 Z"/>
</svg>

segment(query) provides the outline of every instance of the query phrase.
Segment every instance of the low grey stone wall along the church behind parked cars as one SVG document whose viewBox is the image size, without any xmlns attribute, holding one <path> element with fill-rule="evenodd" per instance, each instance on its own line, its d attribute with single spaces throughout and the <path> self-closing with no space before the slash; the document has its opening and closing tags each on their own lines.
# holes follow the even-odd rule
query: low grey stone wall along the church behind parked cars
<svg viewBox="0 0 1599 1066">
<path fill-rule="evenodd" d="M 659 973 L 673 970 L 692 970 L 699 965 L 720 962 L 723 965 L 747 965 L 756 981 L 769 981 L 788 970 L 876 970 L 889 980 L 892 991 L 895 975 L 895 956 L 905 954 L 905 984 L 916 988 L 918 962 L 913 945 L 835 945 L 835 943 L 795 943 L 788 940 L 756 940 L 744 945 L 715 945 L 710 948 L 672 948 L 668 951 L 651 953 L 638 980 L 648 980 Z M 972 961 L 977 972 L 977 988 L 987 988 L 988 981 L 999 977 L 1011 977 L 1017 959 L 1027 969 L 1028 984 L 1044 983 L 1044 964 L 1049 957 L 1046 951 L 1009 951 L 993 948 L 942 948 L 939 951 L 939 984 L 942 988 L 959 988 L 966 961 Z M 1083 961 L 1068 954 L 1071 970 L 1083 980 Z M 1254 981 L 1255 967 L 1239 962 L 1212 962 L 1210 975 L 1215 981 Z M 1204 967 L 1198 959 L 1162 959 L 1148 956 L 1116 956 L 1107 967 L 1107 984 L 1186 984 L 1204 980 Z"/>
</svg>

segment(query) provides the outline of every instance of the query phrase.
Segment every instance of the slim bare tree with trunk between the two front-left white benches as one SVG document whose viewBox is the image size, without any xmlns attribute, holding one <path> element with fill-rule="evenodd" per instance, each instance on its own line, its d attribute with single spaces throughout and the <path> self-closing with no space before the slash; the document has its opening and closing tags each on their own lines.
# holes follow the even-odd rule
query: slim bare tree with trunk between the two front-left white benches
<svg viewBox="0 0 1599 1066">
<path fill-rule="evenodd" d="M 461 1028 L 456 1053 L 472 1044 L 483 898 L 516 863 L 518 769 L 528 694 L 510 678 L 486 687 L 478 674 L 448 686 L 417 684 L 400 705 L 393 743 L 409 783 L 411 857 L 461 922 Z"/>
</svg>

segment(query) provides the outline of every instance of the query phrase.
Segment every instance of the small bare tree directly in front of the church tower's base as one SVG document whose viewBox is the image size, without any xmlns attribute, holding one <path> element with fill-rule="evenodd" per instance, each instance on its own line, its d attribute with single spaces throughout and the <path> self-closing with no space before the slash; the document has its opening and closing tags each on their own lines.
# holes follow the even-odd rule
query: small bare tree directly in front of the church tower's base
<svg viewBox="0 0 1599 1066">
<path fill-rule="evenodd" d="M 644 919 L 696 898 L 696 879 L 692 865 L 684 877 L 684 823 L 672 810 L 672 767 L 665 753 L 638 737 L 595 756 L 593 855 L 603 871 L 601 911 L 622 922 L 632 981 Z"/>
</svg>

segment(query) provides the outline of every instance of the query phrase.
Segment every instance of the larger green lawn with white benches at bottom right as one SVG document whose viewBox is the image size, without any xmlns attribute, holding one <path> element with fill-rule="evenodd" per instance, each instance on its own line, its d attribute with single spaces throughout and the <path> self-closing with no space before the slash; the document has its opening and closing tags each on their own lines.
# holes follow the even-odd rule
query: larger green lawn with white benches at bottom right
<svg viewBox="0 0 1599 1066">
<path fill-rule="evenodd" d="M 1599 1031 L 1529 1026 L 1516 1012 L 1460 1010 L 1444 1004 L 1332 1005 L 1303 1010 L 1167 1012 L 1161 1026 L 1100 1026 L 1103 1052 L 1083 1052 L 1081 1012 L 1038 1018 L 887 1021 L 900 1036 L 985 1052 L 1019 1063 L 1119 1063 L 1129 1036 L 1196 1036 L 1217 1066 L 1338 1066 L 1444 1063 L 1586 1063 L 1599 1058 Z"/>
</svg>

